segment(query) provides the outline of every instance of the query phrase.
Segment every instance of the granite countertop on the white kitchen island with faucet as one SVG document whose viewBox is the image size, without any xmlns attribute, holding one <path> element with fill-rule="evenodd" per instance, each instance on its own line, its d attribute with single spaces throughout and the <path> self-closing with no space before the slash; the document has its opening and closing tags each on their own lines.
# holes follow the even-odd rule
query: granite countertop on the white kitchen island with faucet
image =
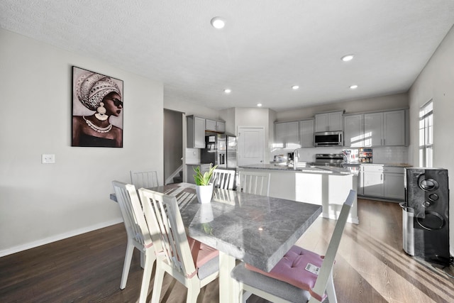
<svg viewBox="0 0 454 303">
<path fill-rule="evenodd" d="M 313 174 L 358 175 L 358 172 L 352 172 L 347 167 L 314 166 L 306 164 L 306 162 L 299 162 L 297 164 L 296 170 L 294 170 L 293 166 L 286 165 L 285 163 L 242 165 L 240 166 L 240 168 L 255 170 L 278 170 L 286 172 L 309 172 Z"/>
</svg>

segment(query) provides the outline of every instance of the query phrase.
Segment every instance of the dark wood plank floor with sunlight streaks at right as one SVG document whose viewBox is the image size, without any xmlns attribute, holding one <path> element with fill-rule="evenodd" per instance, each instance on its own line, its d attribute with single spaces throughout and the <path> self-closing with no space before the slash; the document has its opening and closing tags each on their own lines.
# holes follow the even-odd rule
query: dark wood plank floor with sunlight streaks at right
<svg viewBox="0 0 454 303">
<path fill-rule="evenodd" d="M 359 225 L 345 227 L 333 269 L 339 302 L 454 302 L 454 280 L 402 250 L 398 204 L 359 199 L 358 215 Z M 335 223 L 317 219 L 297 244 L 323 253 Z M 7 255 L 0 258 L 0 302 L 137 302 L 137 250 L 128 285 L 119 289 L 125 249 L 126 232 L 117 224 Z M 452 275 L 452 266 L 445 271 Z M 218 293 L 215 280 L 198 302 L 218 302 Z M 185 302 L 185 296 L 186 289 L 166 275 L 162 302 Z"/>
</svg>

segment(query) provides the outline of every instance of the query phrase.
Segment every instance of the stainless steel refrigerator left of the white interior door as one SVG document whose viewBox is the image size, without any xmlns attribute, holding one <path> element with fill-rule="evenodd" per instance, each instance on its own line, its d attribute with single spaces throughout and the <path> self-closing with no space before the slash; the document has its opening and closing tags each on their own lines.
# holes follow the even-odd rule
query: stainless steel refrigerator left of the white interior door
<svg viewBox="0 0 454 303">
<path fill-rule="evenodd" d="M 201 149 L 201 163 L 218 165 L 218 168 L 236 169 L 236 136 L 217 133 L 205 136 L 205 148 Z"/>
</svg>

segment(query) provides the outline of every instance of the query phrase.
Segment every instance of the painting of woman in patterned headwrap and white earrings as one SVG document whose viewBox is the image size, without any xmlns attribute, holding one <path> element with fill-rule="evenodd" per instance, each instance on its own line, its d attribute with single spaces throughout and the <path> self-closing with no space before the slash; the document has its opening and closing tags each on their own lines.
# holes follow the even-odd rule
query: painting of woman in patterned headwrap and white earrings
<svg viewBox="0 0 454 303">
<path fill-rule="evenodd" d="M 72 67 L 72 146 L 123 147 L 123 81 Z"/>
</svg>

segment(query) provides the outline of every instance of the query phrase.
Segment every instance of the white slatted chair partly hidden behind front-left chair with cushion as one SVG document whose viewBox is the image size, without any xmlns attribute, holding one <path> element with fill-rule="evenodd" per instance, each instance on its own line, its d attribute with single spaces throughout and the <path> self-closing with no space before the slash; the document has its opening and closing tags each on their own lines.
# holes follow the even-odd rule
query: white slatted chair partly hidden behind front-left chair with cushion
<svg viewBox="0 0 454 303">
<path fill-rule="evenodd" d="M 143 280 L 140 290 L 140 297 L 143 297 L 148 292 L 150 284 L 151 271 L 155 262 L 155 251 L 153 242 L 151 241 L 150 231 L 146 228 L 145 217 L 143 216 L 142 206 L 133 184 L 126 184 L 119 181 L 113 181 L 116 200 L 120 205 L 121 216 L 126 228 L 128 236 L 128 244 L 126 246 L 125 262 L 123 264 L 123 274 L 121 275 L 120 289 L 126 287 L 128 280 L 129 269 L 131 268 L 131 260 L 133 258 L 133 250 L 137 248 L 140 251 L 140 265 L 143 267 Z"/>
</svg>

